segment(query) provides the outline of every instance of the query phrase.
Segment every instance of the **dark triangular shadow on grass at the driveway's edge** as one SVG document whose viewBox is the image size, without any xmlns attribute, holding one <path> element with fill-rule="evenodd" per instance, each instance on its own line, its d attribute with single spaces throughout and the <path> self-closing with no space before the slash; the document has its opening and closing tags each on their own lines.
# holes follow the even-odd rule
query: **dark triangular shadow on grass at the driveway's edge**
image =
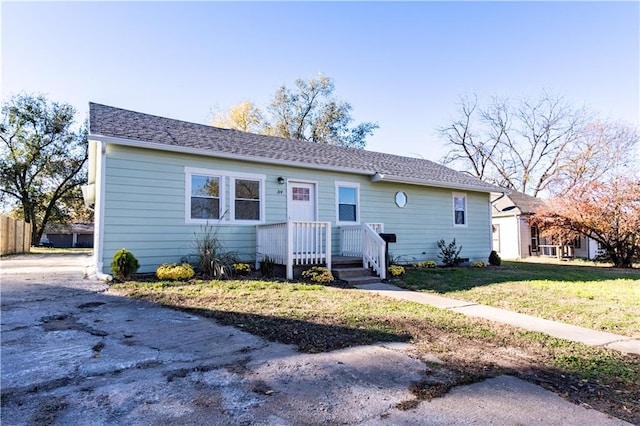
<svg viewBox="0 0 640 426">
<path fill-rule="evenodd" d="M 220 324 L 238 327 L 270 341 L 296 345 L 301 352 L 306 353 L 327 352 L 376 342 L 407 342 L 412 337 L 406 333 L 321 324 L 276 316 L 169 307 L 215 319 Z"/>
</svg>

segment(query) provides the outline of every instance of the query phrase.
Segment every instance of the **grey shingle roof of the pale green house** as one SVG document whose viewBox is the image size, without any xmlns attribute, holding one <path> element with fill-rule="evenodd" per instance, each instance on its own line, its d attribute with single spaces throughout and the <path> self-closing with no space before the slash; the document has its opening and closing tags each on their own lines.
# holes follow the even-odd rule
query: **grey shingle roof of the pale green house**
<svg viewBox="0 0 640 426">
<path fill-rule="evenodd" d="M 502 191 L 480 179 L 421 158 L 221 129 L 96 103 L 89 104 L 89 131 L 94 139 L 112 138 L 111 142 L 120 144 L 139 141 L 158 144 L 159 149 L 188 149 L 203 155 L 238 156 L 247 161 L 344 170 L 369 176 L 378 173 L 384 176 L 383 180 L 390 181 Z"/>
</svg>

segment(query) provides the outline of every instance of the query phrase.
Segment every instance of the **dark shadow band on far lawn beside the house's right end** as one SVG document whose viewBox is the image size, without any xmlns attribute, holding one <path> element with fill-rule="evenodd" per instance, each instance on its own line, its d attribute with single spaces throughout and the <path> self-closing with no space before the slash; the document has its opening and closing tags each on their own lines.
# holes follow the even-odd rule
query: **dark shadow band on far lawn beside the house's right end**
<svg viewBox="0 0 640 426">
<path fill-rule="evenodd" d="M 448 293 L 505 282 L 533 280 L 589 282 L 616 279 L 640 280 L 640 269 L 503 262 L 502 266 L 487 268 L 406 268 L 404 279 L 394 284 L 411 290 Z"/>
</svg>

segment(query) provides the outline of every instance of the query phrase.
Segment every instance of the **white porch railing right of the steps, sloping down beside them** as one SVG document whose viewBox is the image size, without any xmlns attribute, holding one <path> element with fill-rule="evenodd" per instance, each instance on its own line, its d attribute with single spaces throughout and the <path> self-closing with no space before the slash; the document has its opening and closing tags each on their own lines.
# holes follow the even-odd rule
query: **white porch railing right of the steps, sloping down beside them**
<svg viewBox="0 0 640 426">
<path fill-rule="evenodd" d="M 340 254 L 362 256 L 362 267 L 372 268 L 384 280 L 387 277 L 386 243 L 378 235 L 383 231 L 382 223 L 341 226 Z"/>
</svg>

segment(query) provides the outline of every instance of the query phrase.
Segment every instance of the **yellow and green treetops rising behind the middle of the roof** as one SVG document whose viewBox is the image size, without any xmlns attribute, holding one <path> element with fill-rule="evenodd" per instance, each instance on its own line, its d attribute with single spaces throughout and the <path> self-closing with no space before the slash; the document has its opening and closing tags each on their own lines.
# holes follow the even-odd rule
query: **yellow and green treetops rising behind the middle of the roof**
<svg viewBox="0 0 640 426">
<path fill-rule="evenodd" d="M 213 124 L 236 130 L 253 131 L 283 138 L 331 145 L 364 148 L 366 137 L 378 128 L 365 122 L 350 127 L 351 104 L 333 96 L 333 80 L 324 75 L 316 79 L 297 79 L 295 89 L 281 86 L 265 114 L 253 103 L 240 102 L 228 112 L 218 113 Z"/>
</svg>

